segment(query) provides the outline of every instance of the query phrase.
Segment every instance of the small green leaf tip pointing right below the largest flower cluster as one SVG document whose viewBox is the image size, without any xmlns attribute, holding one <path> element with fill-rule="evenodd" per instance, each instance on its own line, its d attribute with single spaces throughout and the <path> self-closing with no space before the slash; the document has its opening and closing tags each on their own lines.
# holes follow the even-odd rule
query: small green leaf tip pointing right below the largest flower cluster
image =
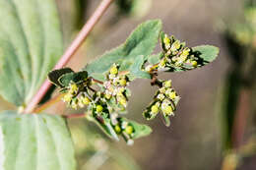
<svg viewBox="0 0 256 170">
<path fill-rule="evenodd" d="M 147 125 L 139 124 L 135 121 L 129 121 L 129 123 L 134 128 L 133 139 L 138 139 L 141 137 L 146 137 L 152 133 L 152 129 Z"/>
</svg>

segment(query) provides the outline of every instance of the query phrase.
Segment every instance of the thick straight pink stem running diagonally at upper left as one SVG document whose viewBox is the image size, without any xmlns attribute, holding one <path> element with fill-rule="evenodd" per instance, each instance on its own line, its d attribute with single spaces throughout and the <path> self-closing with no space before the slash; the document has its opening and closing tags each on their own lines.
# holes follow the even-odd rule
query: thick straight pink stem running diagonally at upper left
<svg viewBox="0 0 256 170">
<path fill-rule="evenodd" d="M 93 30 L 93 28 L 96 26 L 96 23 L 101 18 L 103 13 L 106 11 L 106 9 L 109 7 L 109 5 L 114 0 L 102 0 L 101 3 L 96 8 L 95 13 L 93 16 L 89 19 L 89 21 L 85 24 L 85 26 L 81 29 L 77 37 L 74 39 L 74 41 L 71 43 L 69 48 L 66 50 L 66 52 L 63 54 L 61 59 L 58 61 L 58 63 L 55 65 L 54 69 L 60 69 L 64 67 L 69 60 L 72 58 L 72 56 L 75 54 L 75 52 L 79 49 L 79 47 L 83 44 L 84 40 L 87 38 L 89 33 Z M 39 103 L 41 98 L 45 95 L 47 90 L 50 87 L 50 83 L 48 80 L 45 80 L 45 82 L 41 85 L 41 87 L 38 89 L 37 93 L 32 97 L 31 102 L 28 104 L 27 108 L 25 109 L 25 113 L 32 113 L 36 105 Z"/>
</svg>

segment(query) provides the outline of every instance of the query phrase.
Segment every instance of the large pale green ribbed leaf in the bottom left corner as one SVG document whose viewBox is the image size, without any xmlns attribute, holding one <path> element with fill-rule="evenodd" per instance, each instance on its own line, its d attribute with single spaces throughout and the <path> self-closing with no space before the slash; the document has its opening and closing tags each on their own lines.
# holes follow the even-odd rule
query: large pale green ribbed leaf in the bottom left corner
<svg viewBox="0 0 256 170">
<path fill-rule="evenodd" d="M 1 170 L 75 170 L 65 120 L 46 114 L 0 114 Z"/>
</svg>

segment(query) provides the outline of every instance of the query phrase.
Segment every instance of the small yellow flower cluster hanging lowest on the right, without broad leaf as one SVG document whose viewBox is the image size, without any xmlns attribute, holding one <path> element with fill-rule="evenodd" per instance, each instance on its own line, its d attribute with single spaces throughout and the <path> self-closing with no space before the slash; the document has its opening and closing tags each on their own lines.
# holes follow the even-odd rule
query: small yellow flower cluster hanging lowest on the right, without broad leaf
<svg viewBox="0 0 256 170">
<path fill-rule="evenodd" d="M 143 115 L 147 120 L 155 118 L 159 112 L 164 118 L 174 115 L 176 105 L 180 99 L 176 91 L 171 87 L 171 81 L 160 81 L 160 88 L 157 91 L 153 102 L 147 107 Z"/>
</svg>

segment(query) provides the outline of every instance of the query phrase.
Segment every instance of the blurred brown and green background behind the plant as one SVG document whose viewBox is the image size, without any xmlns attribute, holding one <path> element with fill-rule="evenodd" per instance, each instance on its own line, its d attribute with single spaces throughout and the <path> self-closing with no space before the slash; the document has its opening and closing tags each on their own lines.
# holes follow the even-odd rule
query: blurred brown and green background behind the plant
<svg viewBox="0 0 256 170">
<path fill-rule="evenodd" d="M 56 0 L 67 47 L 100 0 Z M 105 50 L 122 43 L 142 22 L 160 19 L 163 30 L 188 46 L 212 44 L 218 59 L 171 79 L 181 96 L 171 126 L 147 122 L 142 112 L 156 91 L 149 80 L 130 85 L 129 118 L 149 124 L 151 136 L 112 142 L 94 123 L 69 120 L 79 170 L 254 170 L 256 169 L 256 1 L 116 0 L 69 66 L 79 71 Z M 156 49 L 156 52 L 160 47 Z M 5 101 L 1 109 L 10 109 Z M 48 112 L 81 112 L 59 102 Z"/>
</svg>

